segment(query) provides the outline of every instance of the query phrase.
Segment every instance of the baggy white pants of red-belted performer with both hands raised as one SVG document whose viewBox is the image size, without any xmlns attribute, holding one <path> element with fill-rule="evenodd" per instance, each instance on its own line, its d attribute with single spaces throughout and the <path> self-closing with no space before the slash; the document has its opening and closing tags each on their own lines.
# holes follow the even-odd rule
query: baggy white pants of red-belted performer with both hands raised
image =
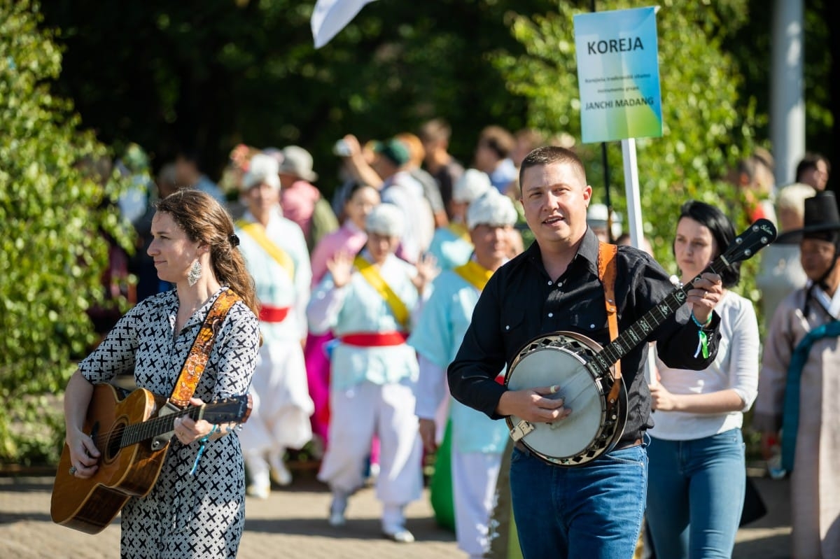
<svg viewBox="0 0 840 559">
<path fill-rule="evenodd" d="M 407 384 L 364 382 L 330 394 L 329 440 L 318 479 L 333 491 L 352 494 L 364 483 L 365 459 L 374 434 L 380 441 L 376 497 L 404 505 L 423 492 L 423 448 Z"/>
</svg>

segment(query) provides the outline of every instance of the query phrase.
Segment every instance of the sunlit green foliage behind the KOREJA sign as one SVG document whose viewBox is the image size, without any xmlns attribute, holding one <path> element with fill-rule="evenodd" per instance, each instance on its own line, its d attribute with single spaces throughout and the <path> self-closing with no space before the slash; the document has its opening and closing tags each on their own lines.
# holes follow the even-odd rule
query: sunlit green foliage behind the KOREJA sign
<svg viewBox="0 0 840 559">
<path fill-rule="evenodd" d="M 675 271 L 671 254 L 680 205 L 689 199 L 720 206 L 747 225 L 740 193 L 725 179 L 738 159 L 755 144 L 758 120 L 754 103 L 740 97 L 738 65 L 720 48 L 723 29 L 736 33 L 746 0 L 717 3 L 662 3 L 657 14 L 662 138 L 638 138 L 638 180 L 643 228 L 657 259 Z M 604 1 L 602 11 L 636 7 Z M 496 65 L 511 91 L 528 97 L 528 123 L 549 136 L 580 138 L 580 96 L 575 60 L 573 16 L 585 13 L 565 3 L 556 12 L 512 17 L 512 33 L 525 55 L 497 55 Z M 726 22 L 723 25 L 722 22 Z M 713 60 L 713 63 L 710 63 Z M 595 201 L 606 201 L 600 144 L 578 145 L 584 156 Z M 621 145 L 607 146 L 610 201 L 626 215 Z M 748 275 L 748 274 L 746 274 Z M 752 283 L 752 282 L 748 282 Z M 757 293 L 750 293 L 757 300 Z"/>
</svg>

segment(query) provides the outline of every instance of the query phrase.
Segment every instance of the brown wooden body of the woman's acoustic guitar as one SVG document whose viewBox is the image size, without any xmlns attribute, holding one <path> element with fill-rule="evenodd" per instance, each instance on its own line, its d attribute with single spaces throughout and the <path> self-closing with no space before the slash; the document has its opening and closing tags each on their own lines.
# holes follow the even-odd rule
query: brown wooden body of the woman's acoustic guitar
<svg viewBox="0 0 840 559">
<path fill-rule="evenodd" d="M 146 389 L 124 400 L 110 384 L 97 384 L 87 410 L 85 432 L 97 441 L 102 457 L 92 478 L 69 473 L 70 449 L 65 443 L 55 473 L 50 515 L 60 525 L 88 534 L 108 526 L 129 498 L 149 494 L 163 467 L 168 444 L 151 449 L 151 441 L 120 447 L 119 437 L 129 425 L 147 421 L 163 404 Z"/>
</svg>

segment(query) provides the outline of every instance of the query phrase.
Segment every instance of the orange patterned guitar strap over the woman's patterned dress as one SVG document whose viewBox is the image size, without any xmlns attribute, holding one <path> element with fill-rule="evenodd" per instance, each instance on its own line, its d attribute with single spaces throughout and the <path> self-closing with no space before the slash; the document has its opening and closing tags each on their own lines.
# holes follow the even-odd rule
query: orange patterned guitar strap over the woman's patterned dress
<svg viewBox="0 0 840 559">
<path fill-rule="evenodd" d="M 192 342 L 189 355 L 186 356 L 184 367 L 169 397 L 169 402 L 179 408 L 186 408 L 190 404 L 190 398 L 198 386 L 198 379 L 202 378 L 207 359 L 210 358 L 210 351 L 213 349 L 213 342 L 216 334 L 222 327 L 224 317 L 228 315 L 230 308 L 239 300 L 231 290 L 223 290 L 218 298 L 213 301 L 213 306 L 204 318 L 202 329 L 198 331 L 196 341 Z"/>
</svg>

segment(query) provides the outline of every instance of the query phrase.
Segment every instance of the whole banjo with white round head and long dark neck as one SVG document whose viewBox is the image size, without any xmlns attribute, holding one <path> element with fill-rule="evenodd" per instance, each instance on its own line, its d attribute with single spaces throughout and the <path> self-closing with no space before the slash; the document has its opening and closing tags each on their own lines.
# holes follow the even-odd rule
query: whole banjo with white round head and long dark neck
<svg viewBox="0 0 840 559">
<path fill-rule="evenodd" d="M 732 264 L 749 259 L 775 238 L 773 223 L 759 219 L 738 235 L 706 271 L 720 274 Z M 675 288 L 605 347 L 576 332 L 552 332 L 526 343 L 507 370 L 507 388 L 559 386 L 555 394 L 546 397 L 564 399 L 564 405 L 573 411 L 565 419 L 550 423 L 533 423 L 510 415 L 506 421 L 512 439 L 521 441 L 543 462 L 566 468 L 585 465 L 610 452 L 627 423 L 627 389 L 615 363 L 685 304 L 691 285 L 700 277 Z"/>
</svg>

